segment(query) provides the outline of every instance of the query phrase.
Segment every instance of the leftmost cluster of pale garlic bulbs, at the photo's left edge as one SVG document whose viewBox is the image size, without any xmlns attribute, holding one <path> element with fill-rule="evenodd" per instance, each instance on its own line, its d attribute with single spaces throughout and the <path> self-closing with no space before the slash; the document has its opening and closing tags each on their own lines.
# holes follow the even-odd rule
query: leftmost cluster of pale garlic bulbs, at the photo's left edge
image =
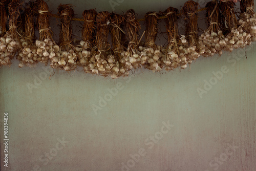
<svg viewBox="0 0 256 171">
<path fill-rule="evenodd" d="M 15 56 L 19 42 L 13 35 L 5 34 L 0 38 L 0 65 L 11 65 L 11 60 Z"/>
</svg>

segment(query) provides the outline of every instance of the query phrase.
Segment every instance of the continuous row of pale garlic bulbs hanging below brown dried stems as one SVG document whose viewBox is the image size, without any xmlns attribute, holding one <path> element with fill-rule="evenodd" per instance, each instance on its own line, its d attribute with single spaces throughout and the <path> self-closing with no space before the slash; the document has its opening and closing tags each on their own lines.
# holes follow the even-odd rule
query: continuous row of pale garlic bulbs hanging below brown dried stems
<svg viewBox="0 0 256 171">
<path fill-rule="evenodd" d="M 169 12 L 167 15 L 173 14 L 175 13 Z M 191 15 L 187 15 L 187 17 L 189 19 Z M 222 19 L 226 22 L 225 18 Z M 173 20 L 173 22 L 177 22 L 177 20 Z M 16 55 L 16 58 L 20 61 L 19 67 L 24 65 L 32 67 L 37 62 L 43 62 L 47 65 L 50 61 L 52 68 L 70 71 L 77 66 L 81 66 L 87 73 L 103 76 L 111 75 L 112 78 L 127 76 L 131 69 L 142 66 L 153 71 L 184 69 L 188 63 L 191 63 L 200 55 L 212 56 L 216 53 L 221 55 L 223 50 L 232 51 L 233 48 L 244 48 L 246 45 L 250 45 L 252 41 L 256 40 L 255 22 L 256 16 L 252 8 L 247 7 L 237 26 L 229 28 L 229 32 L 225 35 L 221 30 L 214 32 L 209 29 L 198 37 L 191 36 L 190 32 L 185 36 L 177 36 L 179 39 L 172 39 L 173 35 L 168 35 L 171 41 L 166 47 L 150 46 L 148 44 L 134 45 L 133 38 L 136 38 L 138 42 L 137 35 L 134 35 L 132 38 L 130 38 L 131 36 L 127 38 L 130 41 L 128 48 L 119 48 L 117 53 L 114 50 L 106 50 L 109 47 L 102 50 L 102 48 L 97 47 L 97 44 L 92 47 L 90 41 L 84 40 L 81 40 L 74 48 L 62 51 L 61 47 L 51 38 L 36 40 L 35 44 L 29 44 L 26 38 L 18 39 L 12 35 L 15 33 L 7 32 L 1 37 L 0 62 L 1 65 L 10 65 L 11 59 Z M 189 21 L 186 27 L 188 25 Z M 121 28 L 118 30 L 123 32 Z M 126 31 L 125 28 L 124 31 Z M 133 46 L 130 46 L 130 43 Z M 22 48 L 20 48 L 20 45 L 22 45 Z"/>
</svg>

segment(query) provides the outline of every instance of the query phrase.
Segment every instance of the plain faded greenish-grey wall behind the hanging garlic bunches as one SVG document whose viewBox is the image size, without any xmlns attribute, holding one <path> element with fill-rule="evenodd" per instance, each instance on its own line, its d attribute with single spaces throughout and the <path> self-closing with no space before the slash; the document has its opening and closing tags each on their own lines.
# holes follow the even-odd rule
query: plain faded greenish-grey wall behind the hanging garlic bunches
<svg viewBox="0 0 256 171">
<path fill-rule="evenodd" d="M 185 3 L 113 1 L 115 12 L 134 8 L 138 17 Z M 109 1 L 50 0 L 50 10 L 59 3 L 74 4 L 78 17 L 113 9 Z M 0 69 L 1 135 L 9 114 L 9 165 L 1 136 L 1 170 L 256 170 L 255 46 L 200 57 L 182 71 L 115 80 L 20 69 L 14 60 Z"/>
</svg>

